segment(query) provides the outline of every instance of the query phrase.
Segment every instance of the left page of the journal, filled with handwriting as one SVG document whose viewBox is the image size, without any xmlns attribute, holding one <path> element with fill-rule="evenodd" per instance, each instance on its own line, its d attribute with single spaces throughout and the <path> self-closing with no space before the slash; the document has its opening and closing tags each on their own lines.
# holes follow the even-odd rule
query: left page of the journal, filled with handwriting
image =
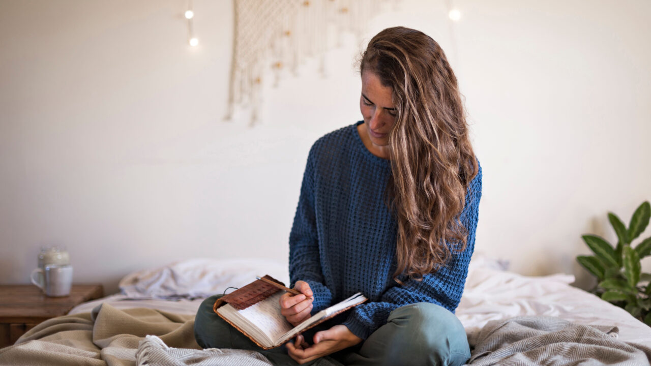
<svg viewBox="0 0 651 366">
<path fill-rule="evenodd" d="M 238 313 L 251 320 L 270 339 L 275 341 L 279 336 L 292 329 L 292 324 L 281 314 L 279 299 L 283 293 L 284 291 L 276 292 L 264 301 L 238 310 Z"/>
</svg>

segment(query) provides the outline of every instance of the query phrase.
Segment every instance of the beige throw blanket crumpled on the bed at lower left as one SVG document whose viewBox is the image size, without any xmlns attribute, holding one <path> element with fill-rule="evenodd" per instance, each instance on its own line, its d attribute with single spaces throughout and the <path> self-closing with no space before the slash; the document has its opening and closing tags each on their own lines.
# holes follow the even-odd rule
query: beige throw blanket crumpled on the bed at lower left
<svg viewBox="0 0 651 366">
<path fill-rule="evenodd" d="M 92 313 L 46 320 L 16 345 L 0 350 L 0 365 L 133 366 L 140 341 L 158 336 L 166 345 L 201 349 L 194 336 L 194 316 L 154 309 L 118 310 L 108 304 Z"/>
</svg>

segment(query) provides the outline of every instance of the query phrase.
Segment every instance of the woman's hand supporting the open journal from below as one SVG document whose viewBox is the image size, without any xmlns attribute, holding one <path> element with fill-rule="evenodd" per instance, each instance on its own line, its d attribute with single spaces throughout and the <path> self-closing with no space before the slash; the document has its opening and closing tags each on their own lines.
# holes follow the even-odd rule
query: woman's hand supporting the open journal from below
<svg viewBox="0 0 651 366">
<path fill-rule="evenodd" d="M 339 324 L 329 330 L 317 331 L 314 334 L 314 345 L 308 345 L 303 335 L 298 335 L 294 343 L 287 343 L 289 356 L 299 364 L 335 353 L 344 348 L 357 345 L 362 339 L 354 335 L 348 327 Z"/>
</svg>

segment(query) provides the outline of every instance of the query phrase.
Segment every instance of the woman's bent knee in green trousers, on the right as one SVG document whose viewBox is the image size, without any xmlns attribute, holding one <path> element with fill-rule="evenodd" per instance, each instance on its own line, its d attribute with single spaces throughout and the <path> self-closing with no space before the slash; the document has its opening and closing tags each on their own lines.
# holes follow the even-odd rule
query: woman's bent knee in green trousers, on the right
<svg viewBox="0 0 651 366">
<path fill-rule="evenodd" d="M 461 365 L 470 357 L 464 326 L 449 310 L 432 303 L 413 303 L 395 309 L 389 322 L 396 324 L 400 358 L 394 364 Z M 415 362 L 414 362 L 415 361 Z"/>
</svg>

